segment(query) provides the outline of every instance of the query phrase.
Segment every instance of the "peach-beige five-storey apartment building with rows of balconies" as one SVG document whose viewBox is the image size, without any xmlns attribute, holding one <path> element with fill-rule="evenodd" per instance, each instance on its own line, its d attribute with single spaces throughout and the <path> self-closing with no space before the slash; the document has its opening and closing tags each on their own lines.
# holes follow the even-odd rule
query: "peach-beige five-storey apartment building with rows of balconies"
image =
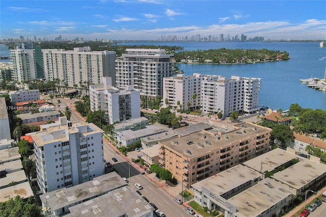
<svg viewBox="0 0 326 217">
<path fill-rule="evenodd" d="M 252 123 L 198 130 L 161 141 L 159 164 L 186 187 L 268 151 L 272 129 Z"/>
</svg>

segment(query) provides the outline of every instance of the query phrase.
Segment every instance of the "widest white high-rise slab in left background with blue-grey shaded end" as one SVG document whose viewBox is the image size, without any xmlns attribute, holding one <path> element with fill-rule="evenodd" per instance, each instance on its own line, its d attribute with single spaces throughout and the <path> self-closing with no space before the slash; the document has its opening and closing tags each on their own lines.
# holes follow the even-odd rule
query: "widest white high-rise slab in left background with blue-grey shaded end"
<svg viewBox="0 0 326 217">
<path fill-rule="evenodd" d="M 110 76 L 115 84 L 115 51 L 92 51 L 90 47 L 73 50 L 42 49 L 44 76 L 47 80 L 59 78 L 63 86 L 100 84 L 101 77 Z"/>
</svg>

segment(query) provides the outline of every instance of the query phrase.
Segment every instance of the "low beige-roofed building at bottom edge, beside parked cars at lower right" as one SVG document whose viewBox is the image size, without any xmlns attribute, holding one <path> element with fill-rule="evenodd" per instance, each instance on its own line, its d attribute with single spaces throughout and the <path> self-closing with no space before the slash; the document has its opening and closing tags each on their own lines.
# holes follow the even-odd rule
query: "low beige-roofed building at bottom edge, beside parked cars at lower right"
<svg viewBox="0 0 326 217">
<path fill-rule="evenodd" d="M 281 216 L 288 211 L 293 189 L 265 178 L 226 201 L 224 216 Z"/>
</svg>

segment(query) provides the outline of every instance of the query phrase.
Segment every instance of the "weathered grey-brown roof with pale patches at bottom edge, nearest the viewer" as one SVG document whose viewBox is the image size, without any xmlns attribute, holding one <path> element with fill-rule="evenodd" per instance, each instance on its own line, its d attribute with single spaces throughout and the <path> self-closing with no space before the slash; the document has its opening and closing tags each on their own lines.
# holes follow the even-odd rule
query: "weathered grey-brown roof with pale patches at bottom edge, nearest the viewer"
<svg viewBox="0 0 326 217">
<path fill-rule="evenodd" d="M 145 216 L 154 211 L 135 190 L 129 185 L 115 189 L 100 197 L 69 207 L 73 217 L 91 216 Z M 126 214 L 126 215 L 125 215 Z"/>
</svg>

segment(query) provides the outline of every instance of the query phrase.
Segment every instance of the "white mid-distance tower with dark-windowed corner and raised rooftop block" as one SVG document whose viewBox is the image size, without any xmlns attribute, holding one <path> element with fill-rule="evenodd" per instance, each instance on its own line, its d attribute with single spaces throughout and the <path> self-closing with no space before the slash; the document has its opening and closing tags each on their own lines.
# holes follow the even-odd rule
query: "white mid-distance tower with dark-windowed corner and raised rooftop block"
<svg viewBox="0 0 326 217">
<path fill-rule="evenodd" d="M 141 117 L 140 91 L 132 87 L 113 87 L 111 77 L 102 77 L 101 85 L 90 85 L 91 110 L 103 110 L 108 122 Z"/>
</svg>

